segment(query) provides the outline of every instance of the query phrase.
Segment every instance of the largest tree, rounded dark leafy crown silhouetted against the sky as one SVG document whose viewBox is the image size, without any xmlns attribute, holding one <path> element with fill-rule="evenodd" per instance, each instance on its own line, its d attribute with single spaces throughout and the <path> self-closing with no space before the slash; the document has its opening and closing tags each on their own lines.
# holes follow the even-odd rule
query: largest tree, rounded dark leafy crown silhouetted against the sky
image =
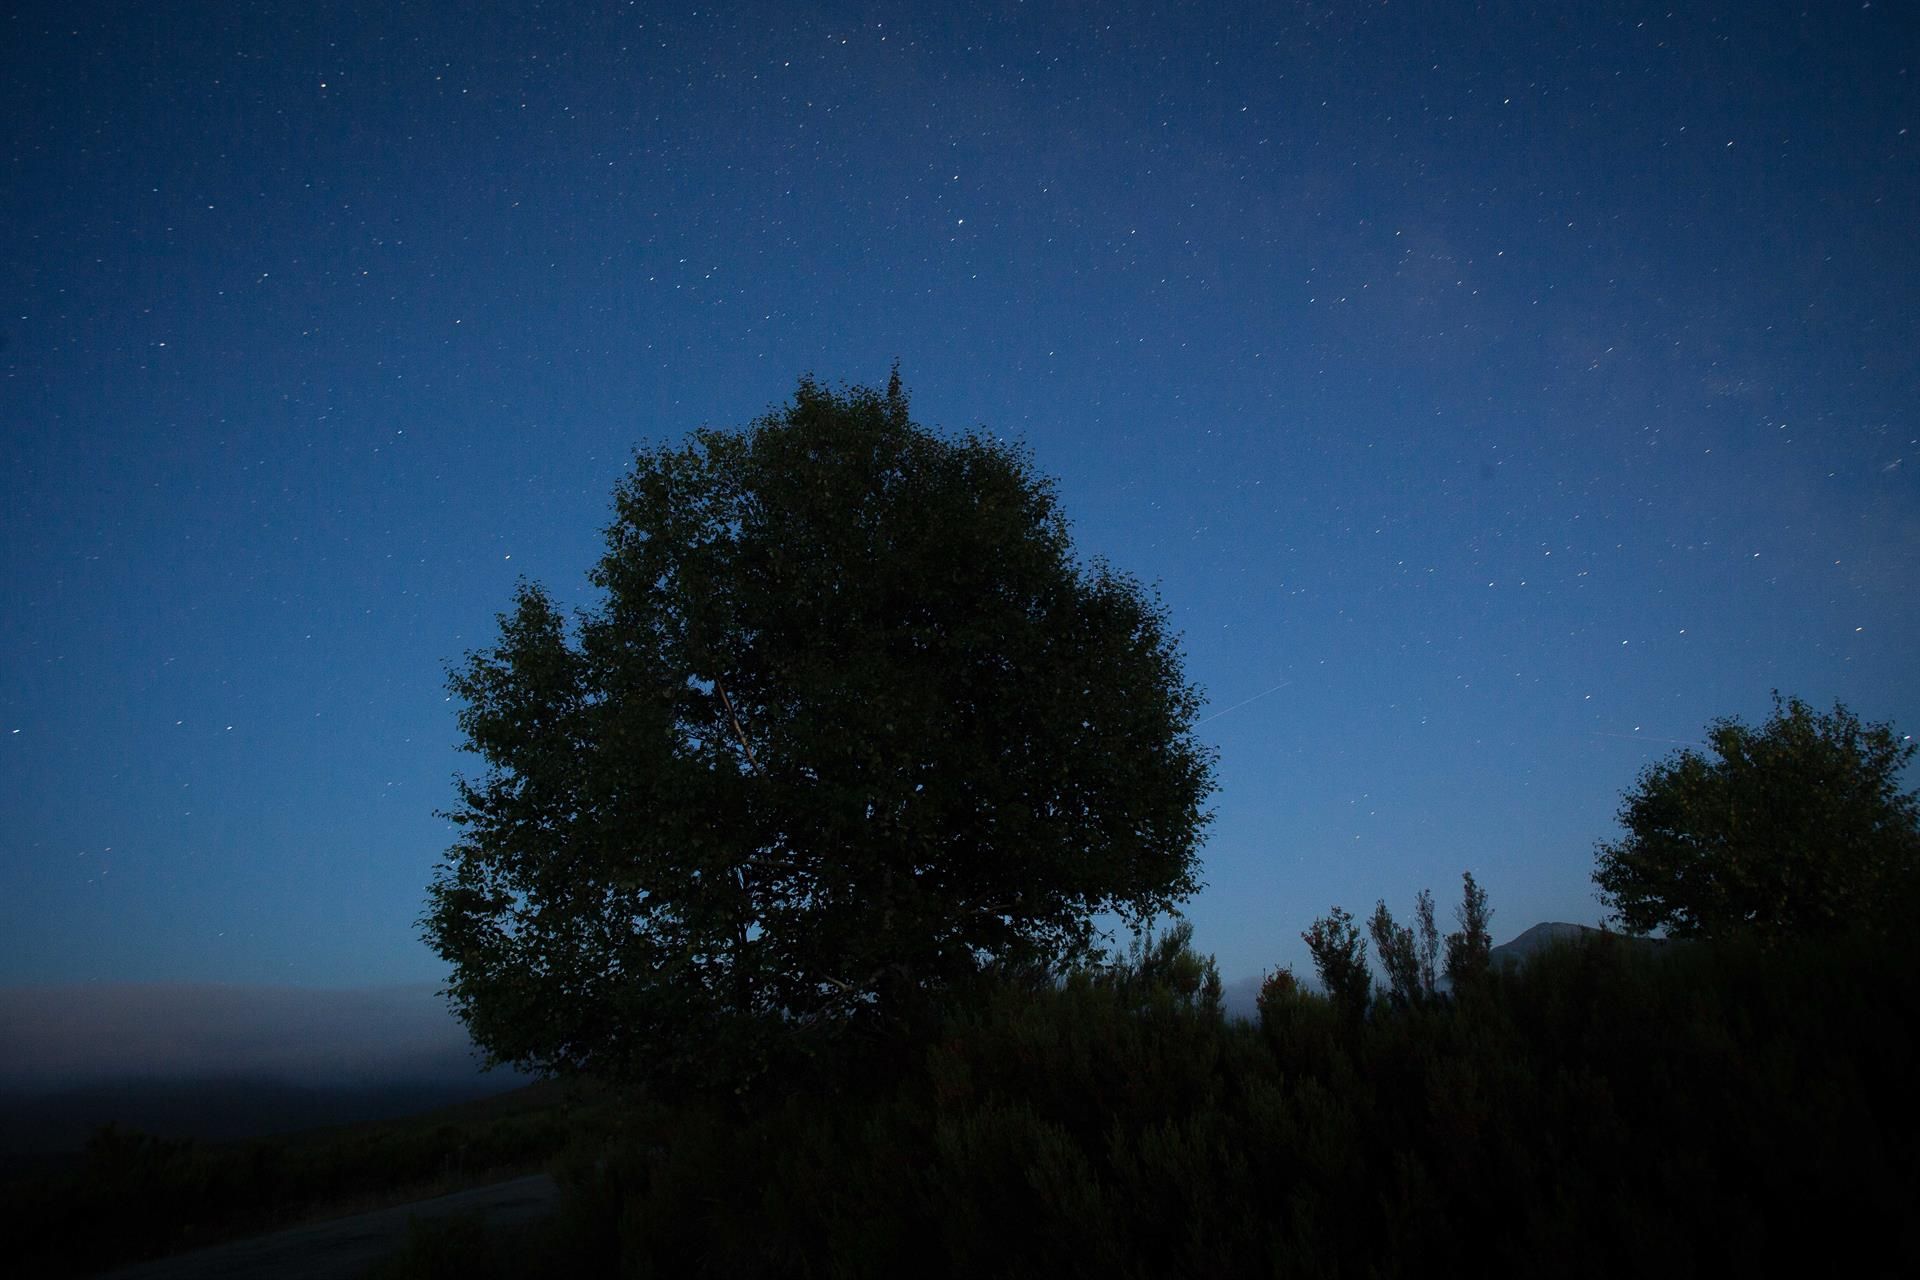
<svg viewBox="0 0 1920 1280">
<path fill-rule="evenodd" d="M 639 453 L 589 580 L 449 676 L 486 771 L 422 929 L 495 1061 L 737 1080 L 1198 889 L 1164 606 L 899 376 Z"/>
</svg>

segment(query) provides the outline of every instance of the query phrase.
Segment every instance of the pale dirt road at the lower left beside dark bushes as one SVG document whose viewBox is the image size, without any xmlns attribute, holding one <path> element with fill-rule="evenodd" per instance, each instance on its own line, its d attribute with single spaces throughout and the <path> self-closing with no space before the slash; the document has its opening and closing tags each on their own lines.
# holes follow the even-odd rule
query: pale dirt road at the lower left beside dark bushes
<svg viewBox="0 0 1920 1280">
<path fill-rule="evenodd" d="M 480 1213 L 490 1226 L 511 1226 L 553 1209 L 559 1194 L 553 1178 L 536 1173 L 513 1182 L 163 1257 L 109 1270 L 102 1280 L 353 1280 L 399 1249 L 407 1240 L 407 1219 Z"/>
</svg>

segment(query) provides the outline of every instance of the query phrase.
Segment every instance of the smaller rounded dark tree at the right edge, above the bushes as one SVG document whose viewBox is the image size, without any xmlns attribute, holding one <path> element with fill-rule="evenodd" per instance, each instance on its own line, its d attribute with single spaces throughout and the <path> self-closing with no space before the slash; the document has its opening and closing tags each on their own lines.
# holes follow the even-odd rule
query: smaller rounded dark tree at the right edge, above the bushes
<svg viewBox="0 0 1920 1280">
<path fill-rule="evenodd" d="M 1878 927 L 1912 892 L 1920 806 L 1901 791 L 1914 745 L 1845 706 L 1774 695 L 1766 723 L 1716 720 L 1713 756 L 1647 768 L 1599 844 L 1594 883 L 1630 933 L 1766 938 Z"/>
</svg>

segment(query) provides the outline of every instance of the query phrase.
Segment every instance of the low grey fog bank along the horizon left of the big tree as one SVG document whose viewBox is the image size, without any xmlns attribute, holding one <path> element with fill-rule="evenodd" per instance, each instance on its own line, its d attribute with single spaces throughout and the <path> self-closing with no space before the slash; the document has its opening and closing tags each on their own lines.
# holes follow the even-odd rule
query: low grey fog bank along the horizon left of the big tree
<svg viewBox="0 0 1920 1280">
<path fill-rule="evenodd" d="M 468 1080 L 480 1057 L 426 983 L 344 990 L 115 983 L 0 988 L 0 1090 L 232 1077 Z M 490 1073 L 513 1082 L 507 1073 Z"/>
</svg>

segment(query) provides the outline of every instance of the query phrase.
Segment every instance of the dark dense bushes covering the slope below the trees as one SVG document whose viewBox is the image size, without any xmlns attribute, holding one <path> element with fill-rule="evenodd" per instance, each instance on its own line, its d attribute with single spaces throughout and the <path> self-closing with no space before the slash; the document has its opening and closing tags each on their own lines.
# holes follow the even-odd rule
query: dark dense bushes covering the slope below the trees
<svg viewBox="0 0 1920 1280">
<path fill-rule="evenodd" d="M 1277 981 L 1248 1025 L 1164 944 L 1002 986 L 899 1079 L 655 1115 L 576 1163 L 566 1247 L 607 1274 L 1916 1263 L 1893 973 L 1872 942 L 1601 936 L 1357 1021 Z"/>
</svg>

